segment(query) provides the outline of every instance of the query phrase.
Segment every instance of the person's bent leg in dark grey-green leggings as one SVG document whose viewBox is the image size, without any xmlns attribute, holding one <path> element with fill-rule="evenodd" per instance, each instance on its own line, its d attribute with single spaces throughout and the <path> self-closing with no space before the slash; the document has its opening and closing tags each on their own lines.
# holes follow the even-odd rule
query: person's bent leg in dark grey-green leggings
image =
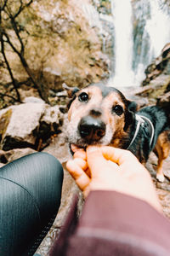
<svg viewBox="0 0 170 256">
<path fill-rule="evenodd" d="M 1 256 L 35 253 L 59 210 L 62 180 L 62 166 L 47 153 L 0 168 Z"/>
</svg>

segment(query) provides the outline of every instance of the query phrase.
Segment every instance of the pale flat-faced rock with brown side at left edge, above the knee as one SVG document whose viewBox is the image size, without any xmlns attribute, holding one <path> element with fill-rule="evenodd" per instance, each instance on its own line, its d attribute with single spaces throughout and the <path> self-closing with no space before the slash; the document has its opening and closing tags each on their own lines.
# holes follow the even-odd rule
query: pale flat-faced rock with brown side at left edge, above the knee
<svg viewBox="0 0 170 256">
<path fill-rule="evenodd" d="M 2 137 L 2 149 L 33 147 L 36 143 L 35 132 L 45 111 L 45 104 L 24 103 L 9 108 L 12 111 Z M 1 122 L 1 117 L 0 117 Z"/>
</svg>

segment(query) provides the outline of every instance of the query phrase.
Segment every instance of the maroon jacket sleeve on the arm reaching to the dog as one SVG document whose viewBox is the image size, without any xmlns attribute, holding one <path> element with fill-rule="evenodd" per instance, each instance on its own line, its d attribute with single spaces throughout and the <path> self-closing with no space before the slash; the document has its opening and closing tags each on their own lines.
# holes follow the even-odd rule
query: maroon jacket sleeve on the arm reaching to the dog
<svg viewBox="0 0 170 256">
<path fill-rule="evenodd" d="M 55 241 L 50 255 L 170 255 L 169 220 L 132 196 L 93 191 L 77 224 L 74 216 L 70 214 L 65 235 Z"/>
</svg>

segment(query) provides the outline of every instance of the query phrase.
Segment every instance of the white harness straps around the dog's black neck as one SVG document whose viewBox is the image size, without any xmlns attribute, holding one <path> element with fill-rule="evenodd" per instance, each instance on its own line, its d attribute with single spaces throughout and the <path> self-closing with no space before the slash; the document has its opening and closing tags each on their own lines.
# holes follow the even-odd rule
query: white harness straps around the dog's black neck
<svg viewBox="0 0 170 256">
<path fill-rule="evenodd" d="M 140 114 L 135 114 L 135 119 L 137 120 L 137 126 L 136 126 L 136 131 L 134 132 L 134 136 L 133 139 L 131 141 L 131 143 L 128 145 L 127 149 L 129 149 L 135 138 L 137 137 L 138 133 L 139 133 L 139 129 L 140 126 L 144 129 L 144 133 L 147 137 L 150 137 L 150 146 L 153 143 L 153 138 L 154 138 L 154 125 L 152 124 L 152 122 L 150 121 L 150 119 L 148 119 L 147 117 L 145 117 L 144 115 L 140 115 Z"/>
</svg>

